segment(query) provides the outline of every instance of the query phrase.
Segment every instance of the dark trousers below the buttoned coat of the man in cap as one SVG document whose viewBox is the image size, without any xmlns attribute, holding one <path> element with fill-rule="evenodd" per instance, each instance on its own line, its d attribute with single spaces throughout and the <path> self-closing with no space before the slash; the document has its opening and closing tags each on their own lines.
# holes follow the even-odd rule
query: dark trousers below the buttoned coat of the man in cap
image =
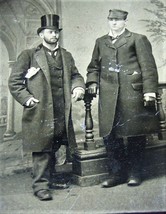
<svg viewBox="0 0 166 214">
<path fill-rule="evenodd" d="M 108 168 L 111 175 L 140 175 L 144 158 L 146 137 L 135 136 L 115 139 L 111 135 L 104 138 L 108 154 Z"/>
</svg>

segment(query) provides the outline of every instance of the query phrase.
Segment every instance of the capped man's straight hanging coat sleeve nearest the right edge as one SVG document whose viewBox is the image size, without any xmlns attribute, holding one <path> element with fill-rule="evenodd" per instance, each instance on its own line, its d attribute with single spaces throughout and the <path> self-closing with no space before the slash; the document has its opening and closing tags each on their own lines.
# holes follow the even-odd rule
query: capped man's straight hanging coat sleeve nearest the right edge
<svg viewBox="0 0 166 214">
<path fill-rule="evenodd" d="M 140 35 L 136 39 L 135 46 L 142 71 L 143 93 L 157 93 L 158 72 L 151 44 L 146 36 Z"/>
</svg>

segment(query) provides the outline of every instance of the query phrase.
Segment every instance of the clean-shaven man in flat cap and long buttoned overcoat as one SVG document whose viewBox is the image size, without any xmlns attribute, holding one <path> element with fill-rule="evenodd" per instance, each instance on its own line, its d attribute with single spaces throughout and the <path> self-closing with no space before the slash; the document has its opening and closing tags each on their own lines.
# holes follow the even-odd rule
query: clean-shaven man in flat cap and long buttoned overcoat
<svg viewBox="0 0 166 214">
<path fill-rule="evenodd" d="M 141 183 L 146 135 L 158 131 L 158 73 L 147 37 L 126 29 L 128 12 L 109 11 L 109 33 L 98 38 L 87 68 L 90 94 L 99 89 L 99 131 L 109 157 L 102 187 Z"/>
</svg>

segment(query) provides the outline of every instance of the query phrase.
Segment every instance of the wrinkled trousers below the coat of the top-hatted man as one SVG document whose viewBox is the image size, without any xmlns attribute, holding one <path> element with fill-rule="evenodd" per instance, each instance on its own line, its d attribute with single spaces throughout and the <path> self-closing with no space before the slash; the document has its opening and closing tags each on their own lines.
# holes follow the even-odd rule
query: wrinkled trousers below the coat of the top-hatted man
<svg viewBox="0 0 166 214">
<path fill-rule="evenodd" d="M 51 175 L 55 169 L 55 152 L 60 148 L 60 144 L 53 145 L 50 151 L 33 152 L 33 183 L 34 193 L 41 189 L 49 189 Z"/>
</svg>

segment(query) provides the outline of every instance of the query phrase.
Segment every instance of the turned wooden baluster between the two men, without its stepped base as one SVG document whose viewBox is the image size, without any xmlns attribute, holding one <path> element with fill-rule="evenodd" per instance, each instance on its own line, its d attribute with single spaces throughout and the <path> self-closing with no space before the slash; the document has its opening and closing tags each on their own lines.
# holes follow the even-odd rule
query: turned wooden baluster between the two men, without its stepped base
<svg viewBox="0 0 166 214">
<path fill-rule="evenodd" d="M 93 119 L 91 114 L 91 102 L 93 100 L 93 95 L 88 94 L 87 90 L 85 92 L 84 102 L 85 102 L 85 150 L 96 149 L 96 143 L 94 141 L 93 135 Z"/>
</svg>

